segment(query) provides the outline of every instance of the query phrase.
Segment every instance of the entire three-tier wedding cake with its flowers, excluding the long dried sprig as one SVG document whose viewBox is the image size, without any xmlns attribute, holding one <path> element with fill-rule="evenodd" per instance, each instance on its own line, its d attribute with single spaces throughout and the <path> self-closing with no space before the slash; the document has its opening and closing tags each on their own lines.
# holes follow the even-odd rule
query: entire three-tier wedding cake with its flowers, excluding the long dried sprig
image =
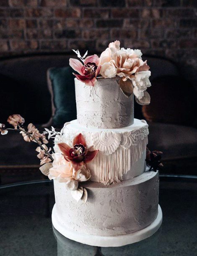
<svg viewBox="0 0 197 256">
<path fill-rule="evenodd" d="M 70 59 L 79 73 L 77 120 L 66 123 L 54 141 L 52 223 L 88 245 L 135 243 L 162 222 L 158 170 L 146 161 L 148 124 L 134 119 L 134 96 L 139 104 L 150 103 L 149 66 L 140 50 L 120 48 L 119 41 L 100 58 L 75 52 L 82 61 Z"/>
</svg>

